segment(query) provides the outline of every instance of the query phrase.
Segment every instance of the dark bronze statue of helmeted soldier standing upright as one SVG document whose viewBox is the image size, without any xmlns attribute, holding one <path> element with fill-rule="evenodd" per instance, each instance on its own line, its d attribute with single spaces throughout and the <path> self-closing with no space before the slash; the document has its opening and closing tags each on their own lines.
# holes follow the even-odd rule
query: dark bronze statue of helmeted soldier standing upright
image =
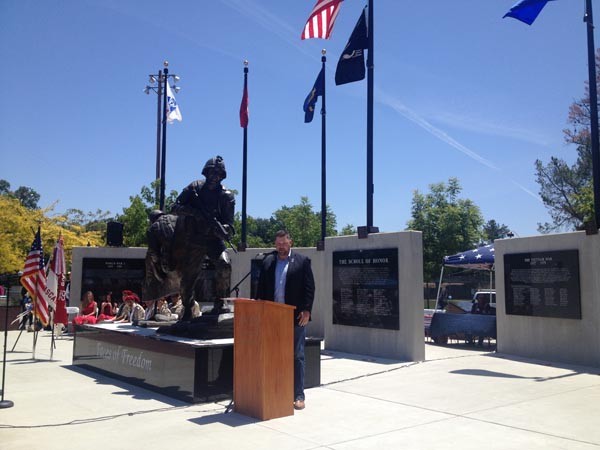
<svg viewBox="0 0 600 450">
<path fill-rule="evenodd" d="M 181 298 L 185 307 L 182 320 L 191 318 L 194 301 L 213 301 L 215 313 L 219 312 L 221 298 L 229 296 L 231 262 L 225 242 L 235 233 L 233 193 L 222 184 L 227 177 L 221 156 L 209 159 L 202 175 L 183 189 L 171 210 L 177 216 L 173 260 L 181 277 Z M 203 265 L 215 267 L 214 298 L 202 296 L 201 272 Z"/>
</svg>

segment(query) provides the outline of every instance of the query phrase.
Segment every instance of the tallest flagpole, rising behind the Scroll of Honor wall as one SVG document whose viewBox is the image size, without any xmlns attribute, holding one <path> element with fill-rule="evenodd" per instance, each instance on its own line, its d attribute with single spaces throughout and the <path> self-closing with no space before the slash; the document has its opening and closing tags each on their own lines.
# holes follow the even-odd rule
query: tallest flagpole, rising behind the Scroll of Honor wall
<svg viewBox="0 0 600 450">
<path fill-rule="evenodd" d="M 379 228 L 373 226 L 373 86 L 375 55 L 373 50 L 373 0 L 369 0 L 368 17 L 368 55 L 367 55 L 367 229 L 368 233 L 378 233 Z"/>
</svg>

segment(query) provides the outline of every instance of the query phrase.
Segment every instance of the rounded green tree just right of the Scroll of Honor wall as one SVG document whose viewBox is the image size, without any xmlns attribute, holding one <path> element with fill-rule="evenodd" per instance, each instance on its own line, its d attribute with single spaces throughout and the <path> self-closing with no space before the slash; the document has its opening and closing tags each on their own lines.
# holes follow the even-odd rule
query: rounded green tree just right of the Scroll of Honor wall
<svg viewBox="0 0 600 450">
<path fill-rule="evenodd" d="M 408 228 L 423 233 L 425 281 L 435 281 L 443 257 L 476 246 L 481 237 L 483 217 L 471 200 L 460 199 L 456 178 L 429 186 L 430 192 L 413 193 L 412 219 Z"/>
</svg>

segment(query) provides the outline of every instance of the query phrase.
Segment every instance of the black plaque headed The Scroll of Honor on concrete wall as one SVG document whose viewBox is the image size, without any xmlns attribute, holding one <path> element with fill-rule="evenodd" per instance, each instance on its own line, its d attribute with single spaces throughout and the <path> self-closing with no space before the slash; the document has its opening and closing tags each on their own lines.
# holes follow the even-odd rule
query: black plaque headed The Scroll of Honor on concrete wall
<svg viewBox="0 0 600 450">
<path fill-rule="evenodd" d="M 398 249 L 333 252 L 333 323 L 400 329 Z"/>
</svg>

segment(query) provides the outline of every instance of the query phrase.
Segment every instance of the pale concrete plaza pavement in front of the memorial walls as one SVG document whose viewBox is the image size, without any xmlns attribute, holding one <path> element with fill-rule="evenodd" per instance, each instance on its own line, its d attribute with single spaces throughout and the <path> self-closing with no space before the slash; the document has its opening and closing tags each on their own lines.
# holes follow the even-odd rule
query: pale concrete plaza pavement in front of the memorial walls
<svg viewBox="0 0 600 450">
<path fill-rule="evenodd" d="M 18 336 L 10 331 L 8 350 Z M 2 335 L 2 338 L 4 336 Z M 599 449 L 600 369 L 426 344 L 411 363 L 323 352 L 306 409 L 258 421 L 71 367 L 71 337 L 23 333 L 7 354 L 4 450 Z"/>
</svg>

